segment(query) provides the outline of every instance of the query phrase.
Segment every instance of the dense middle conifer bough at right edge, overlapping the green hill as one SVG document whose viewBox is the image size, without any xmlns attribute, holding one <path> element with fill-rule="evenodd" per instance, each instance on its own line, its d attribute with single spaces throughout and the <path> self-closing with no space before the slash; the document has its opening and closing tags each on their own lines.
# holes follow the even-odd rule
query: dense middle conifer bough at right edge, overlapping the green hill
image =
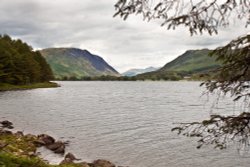
<svg viewBox="0 0 250 167">
<path fill-rule="evenodd" d="M 242 36 L 231 41 L 224 47 L 217 48 L 212 56 L 223 66 L 217 70 L 216 81 L 207 81 L 207 90 L 212 93 L 216 90 L 224 94 L 230 93 L 237 101 L 242 97 L 250 97 L 250 35 Z M 246 100 L 247 100 L 246 99 Z"/>
</svg>

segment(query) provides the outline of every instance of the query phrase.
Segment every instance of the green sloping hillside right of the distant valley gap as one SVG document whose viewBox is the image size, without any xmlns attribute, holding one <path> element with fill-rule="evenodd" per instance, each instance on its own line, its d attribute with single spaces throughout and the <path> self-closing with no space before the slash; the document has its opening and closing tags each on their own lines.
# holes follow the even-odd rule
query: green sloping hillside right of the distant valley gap
<svg viewBox="0 0 250 167">
<path fill-rule="evenodd" d="M 215 57 L 209 56 L 211 51 L 212 50 L 208 49 L 188 50 L 164 65 L 161 69 L 140 74 L 137 77 L 145 79 L 178 80 L 185 76 L 208 73 L 220 66 L 220 63 L 215 60 Z"/>
</svg>

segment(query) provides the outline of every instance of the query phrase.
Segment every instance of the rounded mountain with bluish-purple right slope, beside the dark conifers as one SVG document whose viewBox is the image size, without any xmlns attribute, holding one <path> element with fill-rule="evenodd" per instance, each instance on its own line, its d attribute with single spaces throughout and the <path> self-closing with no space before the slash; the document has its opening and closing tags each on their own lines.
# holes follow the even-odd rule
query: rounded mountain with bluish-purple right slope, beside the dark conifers
<svg viewBox="0 0 250 167">
<path fill-rule="evenodd" d="M 82 78 L 102 75 L 120 76 L 105 60 L 87 50 L 48 48 L 40 51 L 52 68 L 55 78 Z"/>
</svg>

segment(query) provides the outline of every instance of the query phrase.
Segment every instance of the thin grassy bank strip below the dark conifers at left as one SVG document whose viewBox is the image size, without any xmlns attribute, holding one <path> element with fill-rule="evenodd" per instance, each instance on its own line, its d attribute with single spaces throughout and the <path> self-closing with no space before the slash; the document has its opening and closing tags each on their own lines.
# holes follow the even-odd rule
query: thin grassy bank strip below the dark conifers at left
<svg viewBox="0 0 250 167">
<path fill-rule="evenodd" d="M 55 87 L 59 87 L 59 85 L 54 82 L 35 83 L 29 85 L 11 85 L 6 83 L 0 83 L 0 91 L 25 90 L 25 89 L 36 89 L 36 88 L 55 88 Z"/>
</svg>

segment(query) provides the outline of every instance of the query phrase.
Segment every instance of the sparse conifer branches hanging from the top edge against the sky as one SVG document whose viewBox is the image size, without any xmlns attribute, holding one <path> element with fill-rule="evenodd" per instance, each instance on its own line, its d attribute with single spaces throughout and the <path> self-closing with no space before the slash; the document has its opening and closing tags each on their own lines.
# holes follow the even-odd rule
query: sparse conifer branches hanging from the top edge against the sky
<svg viewBox="0 0 250 167">
<path fill-rule="evenodd" d="M 141 14 L 148 21 L 161 20 L 168 29 L 186 26 L 191 34 L 217 34 L 219 26 L 229 25 L 232 15 L 250 24 L 249 0 L 118 0 L 115 8 L 114 16 L 124 20 Z"/>
</svg>

